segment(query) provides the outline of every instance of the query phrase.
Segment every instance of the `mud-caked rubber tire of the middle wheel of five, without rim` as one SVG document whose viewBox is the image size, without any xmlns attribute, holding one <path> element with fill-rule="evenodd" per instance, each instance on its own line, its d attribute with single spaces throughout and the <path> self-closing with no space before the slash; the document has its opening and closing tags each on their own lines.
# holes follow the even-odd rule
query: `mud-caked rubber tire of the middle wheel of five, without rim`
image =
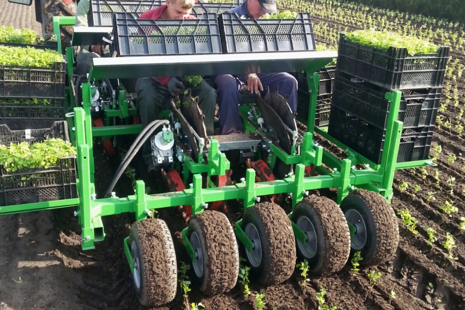
<svg viewBox="0 0 465 310">
<path fill-rule="evenodd" d="M 263 285 L 287 280 L 295 268 L 295 237 L 292 224 L 284 210 L 275 203 L 261 202 L 244 211 L 242 229 L 251 223 L 261 243 L 261 262 L 250 266 L 250 278 Z M 246 257 L 246 255 L 245 255 Z"/>
</svg>

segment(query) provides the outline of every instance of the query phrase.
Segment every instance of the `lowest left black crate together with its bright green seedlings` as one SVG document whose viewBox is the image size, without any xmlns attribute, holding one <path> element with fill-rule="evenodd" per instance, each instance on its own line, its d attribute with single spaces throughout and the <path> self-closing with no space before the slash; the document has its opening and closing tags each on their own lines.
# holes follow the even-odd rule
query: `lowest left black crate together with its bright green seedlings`
<svg viewBox="0 0 465 310">
<path fill-rule="evenodd" d="M 0 125 L 0 205 L 76 198 L 75 148 L 65 121 L 49 129 Z"/>
</svg>

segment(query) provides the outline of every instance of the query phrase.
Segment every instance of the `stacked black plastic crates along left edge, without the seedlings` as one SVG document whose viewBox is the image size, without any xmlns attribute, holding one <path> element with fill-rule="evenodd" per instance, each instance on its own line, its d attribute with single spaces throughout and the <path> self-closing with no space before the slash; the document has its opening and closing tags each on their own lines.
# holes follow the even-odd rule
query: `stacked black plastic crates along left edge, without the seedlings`
<svg viewBox="0 0 465 310">
<path fill-rule="evenodd" d="M 0 43 L 16 48 L 57 49 L 45 45 Z M 21 49 L 22 50 L 22 49 Z M 69 140 L 64 119 L 66 65 L 0 65 L 0 145 L 47 138 Z M 74 157 L 58 159 L 49 168 L 4 168 L 0 163 L 0 205 L 77 197 Z"/>
</svg>

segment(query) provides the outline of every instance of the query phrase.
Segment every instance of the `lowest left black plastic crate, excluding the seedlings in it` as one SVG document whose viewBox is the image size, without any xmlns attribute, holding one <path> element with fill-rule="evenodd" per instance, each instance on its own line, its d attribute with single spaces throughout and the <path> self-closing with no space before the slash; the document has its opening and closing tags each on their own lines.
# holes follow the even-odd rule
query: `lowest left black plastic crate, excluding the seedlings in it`
<svg viewBox="0 0 465 310">
<path fill-rule="evenodd" d="M 12 131 L 0 125 L 1 144 L 21 141 L 40 142 L 47 138 L 69 141 L 65 121 L 55 122 L 49 129 Z M 60 158 L 49 168 L 27 168 L 7 172 L 0 164 L 0 205 L 14 205 L 77 197 L 76 160 L 74 156 Z"/>
</svg>

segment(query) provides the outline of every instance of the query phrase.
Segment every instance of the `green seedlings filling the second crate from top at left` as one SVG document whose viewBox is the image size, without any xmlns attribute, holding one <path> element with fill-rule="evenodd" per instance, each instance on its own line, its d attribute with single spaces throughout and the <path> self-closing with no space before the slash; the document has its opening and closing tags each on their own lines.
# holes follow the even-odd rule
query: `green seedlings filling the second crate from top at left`
<svg viewBox="0 0 465 310">
<path fill-rule="evenodd" d="M 63 56 L 55 50 L 0 45 L 0 65 L 49 67 Z"/>
</svg>

